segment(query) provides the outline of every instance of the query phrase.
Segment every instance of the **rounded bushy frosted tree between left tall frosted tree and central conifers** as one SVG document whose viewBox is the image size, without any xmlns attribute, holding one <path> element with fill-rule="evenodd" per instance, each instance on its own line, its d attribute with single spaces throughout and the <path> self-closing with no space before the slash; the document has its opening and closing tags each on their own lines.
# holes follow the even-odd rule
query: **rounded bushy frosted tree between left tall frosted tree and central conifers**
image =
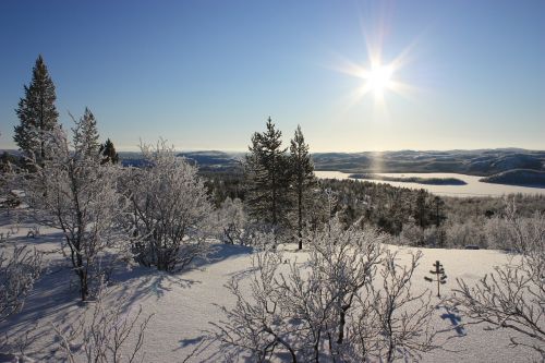
<svg viewBox="0 0 545 363">
<path fill-rule="evenodd" d="M 203 233 L 211 205 L 197 168 L 160 141 L 141 146 L 146 166 L 125 173 L 131 204 L 126 228 L 135 258 L 145 266 L 175 271 L 210 251 Z"/>
</svg>

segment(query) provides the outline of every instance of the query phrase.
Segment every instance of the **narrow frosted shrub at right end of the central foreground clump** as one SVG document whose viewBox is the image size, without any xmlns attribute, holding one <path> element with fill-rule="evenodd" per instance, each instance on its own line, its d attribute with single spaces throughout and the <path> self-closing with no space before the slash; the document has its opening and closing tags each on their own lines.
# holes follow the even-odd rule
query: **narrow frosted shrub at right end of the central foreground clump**
<svg viewBox="0 0 545 363">
<path fill-rule="evenodd" d="M 422 253 L 411 254 L 404 264 L 398 264 L 398 258 L 397 253 L 386 251 L 376 279 L 382 283 L 372 285 L 363 295 L 363 307 L 350 331 L 355 347 L 350 361 L 417 361 L 420 353 L 438 348 L 434 343 L 437 332 L 429 324 L 435 310 L 431 293 L 415 293 L 412 288 Z"/>
</svg>

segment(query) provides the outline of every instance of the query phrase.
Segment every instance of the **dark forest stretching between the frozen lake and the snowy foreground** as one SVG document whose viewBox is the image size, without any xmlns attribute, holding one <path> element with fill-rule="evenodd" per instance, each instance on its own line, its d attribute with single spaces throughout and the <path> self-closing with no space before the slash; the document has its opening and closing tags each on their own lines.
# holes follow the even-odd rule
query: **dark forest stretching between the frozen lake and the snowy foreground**
<svg viewBox="0 0 545 363">
<path fill-rule="evenodd" d="M 208 193 L 217 206 L 225 197 L 245 199 L 243 170 L 206 173 Z M 328 193 L 332 196 L 329 211 Z M 521 218 L 545 211 L 542 194 L 513 194 L 504 197 L 438 196 L 425 190 L 391 186 L 356 180 L 317 180 L 313 187 L 308 220 L 325 220 L 338 215 L 343 226 L 377 227 L 396 237 L 396 243 L 415 246 L 509 249 L 494 239 L 491 230 L 500 225 L 509 203 L 517 205 Z"/>
</svg>

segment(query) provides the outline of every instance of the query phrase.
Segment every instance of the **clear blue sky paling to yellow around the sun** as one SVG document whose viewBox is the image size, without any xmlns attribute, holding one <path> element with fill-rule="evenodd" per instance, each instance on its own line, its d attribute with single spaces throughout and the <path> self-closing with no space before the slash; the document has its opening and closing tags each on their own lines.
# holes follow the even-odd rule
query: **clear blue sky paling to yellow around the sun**
<svg viewBox="0 0 545 363">
<path fill-rule="evenodd" d="M 545 149 L 543 0 L 2 0 L 0 148 L 38 53 L 118 149 L 245 150 L 269 116 L 312 152 Z"/>
</svg>

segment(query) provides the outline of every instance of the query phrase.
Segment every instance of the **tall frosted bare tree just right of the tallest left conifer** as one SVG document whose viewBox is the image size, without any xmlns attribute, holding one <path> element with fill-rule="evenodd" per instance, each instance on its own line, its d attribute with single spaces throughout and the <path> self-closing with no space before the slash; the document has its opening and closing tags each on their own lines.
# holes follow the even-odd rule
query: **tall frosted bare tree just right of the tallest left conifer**
<svg viewBox="0 0 545 363">
<path fill-rule="evenodd" d="M 62 231 L 69 258 L 87 300 L 107 274 L 114 247 L 122 247 L 116 223 L 123 209 L 117 192 L 119 169 L 101 165 L 98 131 L 90 111 L 75 120 L 73 142 L 60 128 L 47 133 L 46 158 L 23 180 L 39 223 Z"/>
</svg>

